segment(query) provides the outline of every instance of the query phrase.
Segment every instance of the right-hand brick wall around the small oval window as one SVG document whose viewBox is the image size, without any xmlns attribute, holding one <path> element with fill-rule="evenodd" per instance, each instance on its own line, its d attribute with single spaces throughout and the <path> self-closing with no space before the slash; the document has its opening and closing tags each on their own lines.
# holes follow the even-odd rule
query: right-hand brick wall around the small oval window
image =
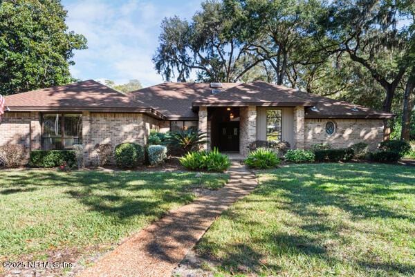
<svg viewBox="0 0 415 277">
<path fill-rule="evenodd" d="M 335 133 L 326 134 L 326 123 L 335 123 Z M 366 142 L 374 150 L 383 140 L 382 120 L 305 120 L 305 147 L 317 143 L 332 144 L 334 148 L 345 148 L 357 142 Z"/>
</svg>

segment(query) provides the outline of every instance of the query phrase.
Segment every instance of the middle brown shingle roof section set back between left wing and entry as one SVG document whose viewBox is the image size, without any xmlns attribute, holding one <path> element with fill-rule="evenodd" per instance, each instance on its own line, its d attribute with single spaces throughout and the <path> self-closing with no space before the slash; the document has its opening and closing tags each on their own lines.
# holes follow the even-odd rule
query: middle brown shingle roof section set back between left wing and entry
<svg viewBox="0 0 415 277">
<path fill-rule="evenodd" d="M 237 86 L 236 83 L 222 83 L 223 89 Z M 167 118 L 194 118 L 197 113 L 192 111 L 192 103 L 199 97 L 212 94 L 208 83 L 163 83 L 129 93 L 130 97 L 142 106 L 151 106 Z"/>
</svg>

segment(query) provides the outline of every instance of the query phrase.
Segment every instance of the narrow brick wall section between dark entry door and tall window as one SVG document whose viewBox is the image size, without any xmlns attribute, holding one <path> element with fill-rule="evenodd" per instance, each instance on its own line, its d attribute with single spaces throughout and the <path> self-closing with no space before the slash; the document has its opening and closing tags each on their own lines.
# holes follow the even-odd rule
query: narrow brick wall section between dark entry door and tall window
<svg viewBox="0 0 415 277">
<path fill-rule="evenodd" d="M 239 108 L 239 153 L 247 156 L 249 144 L 257 140 L 257 107 Z"/>
</svg>

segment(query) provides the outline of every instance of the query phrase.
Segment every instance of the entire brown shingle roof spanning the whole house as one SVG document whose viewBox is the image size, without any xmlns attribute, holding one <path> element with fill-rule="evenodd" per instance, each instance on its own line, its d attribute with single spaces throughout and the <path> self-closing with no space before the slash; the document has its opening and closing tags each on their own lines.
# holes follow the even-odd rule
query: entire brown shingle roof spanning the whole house
<svg viewBox="0 0 415 277">
<path fill-rule="evenodd" d="M 102 111 L 147 113 L 160 119 L 198 118 L 198 106 L 306 106 L 308 118 L 391 118 L 375 111 L 293 88 L 252 82 L 223 83 L 212 94 L 208 83 L 163 83 L 124 95 L 93 80 L 6 96 L 11 111 Z M 315 106 L 317 109 L 312 109 Z M 356 109 L 355 109 L 356 107 Z M 192 109 L 193 108 L 193 109 Z"/>
</svg>

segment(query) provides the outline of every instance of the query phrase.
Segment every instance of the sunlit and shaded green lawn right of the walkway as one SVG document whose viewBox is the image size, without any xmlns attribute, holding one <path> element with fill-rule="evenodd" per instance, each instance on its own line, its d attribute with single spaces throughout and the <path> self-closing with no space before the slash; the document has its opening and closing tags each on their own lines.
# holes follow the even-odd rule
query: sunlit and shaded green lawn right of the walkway
<svg viewBox="0 0 415 277">
<path fill-rule="evenodd" d="M 415 276 L 415 167 L 299 164 L 259 180 L 196 248 L 215 276 Z"/>
</svg>

